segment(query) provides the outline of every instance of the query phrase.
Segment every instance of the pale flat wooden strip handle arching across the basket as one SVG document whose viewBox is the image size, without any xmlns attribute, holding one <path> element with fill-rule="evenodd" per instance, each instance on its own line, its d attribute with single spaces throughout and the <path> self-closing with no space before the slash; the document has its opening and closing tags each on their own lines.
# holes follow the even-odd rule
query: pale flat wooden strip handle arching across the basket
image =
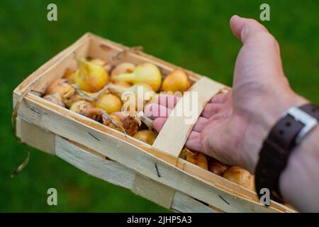
<svg viewBox="0 0 319 227">
<path fill-rule="evenodd" d="M 213 81 L 213 79 L 209 79 L 208 77 L 201 77 L 179 99 L 177 105 L 164 123 L 162 130 L 157 135 L 152 145 L 153 148 L 162 150 L 174 157 L 179 157 L 179 153 L 181 153 L 181 149 L 186 143 L 198 116 L 201 115 L 203 107 L 211 97 L 218 94 L 222 89 L 226 89 L 225 85 Z"/>
</svg>

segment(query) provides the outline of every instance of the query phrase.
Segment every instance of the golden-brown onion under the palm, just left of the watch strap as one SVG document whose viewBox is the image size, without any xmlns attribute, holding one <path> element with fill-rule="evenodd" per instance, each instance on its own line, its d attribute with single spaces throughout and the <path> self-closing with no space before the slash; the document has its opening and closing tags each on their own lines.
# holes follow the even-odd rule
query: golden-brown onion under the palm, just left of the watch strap
<svg viewBox="0 0 319 227">
<path fill-rule="evenodd" d="M 232 182 L 240 184 L 242 187 L 254 191 L 254 175 L 242 167 L 229 167 L 223 174 L 223 177 Z"/>
</svg>

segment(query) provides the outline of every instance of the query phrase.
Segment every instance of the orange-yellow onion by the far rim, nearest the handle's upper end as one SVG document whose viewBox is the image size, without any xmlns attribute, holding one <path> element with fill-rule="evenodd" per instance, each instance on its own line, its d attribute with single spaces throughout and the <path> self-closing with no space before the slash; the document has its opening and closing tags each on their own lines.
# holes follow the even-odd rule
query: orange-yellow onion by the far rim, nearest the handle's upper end
<svg viewBox="0 0 319 227">
<path fill-rule="evenodd" d="M 162 84 L 163 92 L 185 92 L 191 87 L 189 76 L 182 70 L 174 70 L 168 74 Z"/>
</svg>

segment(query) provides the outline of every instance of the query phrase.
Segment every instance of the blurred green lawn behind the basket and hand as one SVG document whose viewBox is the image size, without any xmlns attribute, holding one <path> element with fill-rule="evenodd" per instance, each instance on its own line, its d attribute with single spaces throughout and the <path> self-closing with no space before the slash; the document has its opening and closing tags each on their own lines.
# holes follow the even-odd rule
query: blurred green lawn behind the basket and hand
<svg viewBox="0 0 319 227">
<path fill-rule="evenodd" d="M 46 19 L 57 4 L 58 21 Z M 284 69 L 296 92 L 319 103 L 318 1 L 18 1 L 0 2 L 0 211 L 167 211 L 126 189 L 95 179 L 51 155 L 32 149 L 28 167 L 11 179 L 24 160 L 11 134 L 12 91 L 28 75 L 87 31 L 231 85 L 240 43 L 230 16 L 259 18 L 281 44 Z M 55 187 L 58 206 L 47 206 Z"/>
</svg>

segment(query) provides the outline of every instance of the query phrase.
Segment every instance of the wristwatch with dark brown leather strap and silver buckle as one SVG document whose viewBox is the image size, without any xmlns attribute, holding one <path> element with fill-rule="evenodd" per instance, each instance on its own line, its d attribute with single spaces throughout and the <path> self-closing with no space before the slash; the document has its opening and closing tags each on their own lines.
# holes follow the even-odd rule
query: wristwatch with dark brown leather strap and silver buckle
<svg viewBox="0 0 319 227">
<path fill-rule="evenodd" d="M 319 121 L 319 106 L 306 104 L 289 108 L 277 121 L 259 153 L 255 170 L 255 187 L 260 197 L 261 189 L 269 189 L 274 197 L 281 197 L 279 177 L 285 169 L 293 148 L 309 133 Z M 267 205 L 267 204 L 266 204 Z"/>
</svg>

